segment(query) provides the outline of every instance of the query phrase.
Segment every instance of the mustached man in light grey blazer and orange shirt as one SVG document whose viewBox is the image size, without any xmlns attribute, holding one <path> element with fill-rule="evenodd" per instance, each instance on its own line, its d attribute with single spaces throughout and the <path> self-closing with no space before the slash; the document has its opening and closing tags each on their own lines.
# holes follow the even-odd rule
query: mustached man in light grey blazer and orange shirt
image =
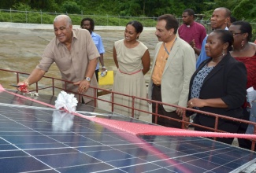
<svg viewBox="0 0 256 173">
<path fill-rule="evenodd" d="M 195 53 L 191 46 L 176 35 L 178 20 L 171 14 L 158 17 L 155 35 L 158 44 L 155 48 L 148 95 L 149 99 L 187 107 L 187 96 L 191 75 L 195 72 Z M 156 112 L 156 104 L 152 105 Z M 158 105 L 158 114 L 177 120 L 182 119 L 183 109 Z M 165 127 L 181 127 L 176 120 L 158 117 L 155 122 Z"/>
</svg>

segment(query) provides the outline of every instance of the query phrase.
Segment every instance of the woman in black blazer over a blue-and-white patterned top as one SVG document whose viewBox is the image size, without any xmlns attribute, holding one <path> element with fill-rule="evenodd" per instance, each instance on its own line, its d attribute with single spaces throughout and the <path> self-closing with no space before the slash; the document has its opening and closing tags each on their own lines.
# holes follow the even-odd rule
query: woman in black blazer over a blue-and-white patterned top
<svg viewBox="0 0 256 173">
<path fill-rule="evenodd" d="M 247 69 L 234 59 L 232 50 L 233 35 L 229 31 L 215 30 L 206 42 L 209 59 L 203 61 L 191 77 L 189 108 L 212 112 L 223 116 L 241 118 L 241 106 L 246 98 Z M 194 123 L 214 128 L 215 117 L 197 113 Z M 236 133 L 239 123 L 219 119 L 217 129 Z M 210 131 L 195 126 L 195 131 Z M 233 138 L 217 138 L 217 141 L 232 144 Z"/>
</svg>

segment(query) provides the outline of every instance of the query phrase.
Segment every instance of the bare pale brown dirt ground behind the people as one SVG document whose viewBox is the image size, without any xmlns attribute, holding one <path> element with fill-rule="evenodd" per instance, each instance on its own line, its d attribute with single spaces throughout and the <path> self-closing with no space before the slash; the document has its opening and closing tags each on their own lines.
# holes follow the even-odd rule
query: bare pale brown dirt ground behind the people
<svg viewBox="0 0 256 173">
<path fill-rule="evenodd" d="M 109 30 L 108 28 L 95 32 L 102 36 L 106 50 L 104 54 L 106 68 L 115 72 L 117 68 L 113 62 L 113 42 L 124 38 L 124 30 Z M 46 45 L 54 38 L 54 31 L 51 29 L 0 28 L 0 33 L 0 68 L 26 73 L 32 72 L 39 63 Z M 154 46 L 158 42 L 154 30 L 143 31 L 139 40 L 148 46 L 152 59 Z M 145 75 L 147 81 L 149 74 L 150 72 Z M 60 78 L 61 75 L 57 66 L 53 64 L 46 76 Z M 0 72 L 0 83 L 5 88 L 11 88 L 9 84 L 16 83 L 16 75 Z M 102 86 L 104 89 L 110 89 L 109 87 L 111 86 Z"/>
</svg>

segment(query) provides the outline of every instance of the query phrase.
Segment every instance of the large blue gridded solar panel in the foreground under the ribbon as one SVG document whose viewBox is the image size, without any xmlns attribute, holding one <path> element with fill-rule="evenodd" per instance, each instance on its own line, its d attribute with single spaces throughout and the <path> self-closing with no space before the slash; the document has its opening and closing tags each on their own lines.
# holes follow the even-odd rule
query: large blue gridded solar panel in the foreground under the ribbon
<svg viewBox="0 0 256 173">
<path fill-rule="evenodd" d="M 54 105 L 52 96 L 33 96 Z M 102 119 L 143 123 L 78 105 Z M 90 116 L 90 113 L 86 113 Z M 256 153 L 207 138 L 134 135 L 0 93 L 1 172 L 242 172 Z M 243 171 L 244 172 L 244 171 Z"/>
</svg>

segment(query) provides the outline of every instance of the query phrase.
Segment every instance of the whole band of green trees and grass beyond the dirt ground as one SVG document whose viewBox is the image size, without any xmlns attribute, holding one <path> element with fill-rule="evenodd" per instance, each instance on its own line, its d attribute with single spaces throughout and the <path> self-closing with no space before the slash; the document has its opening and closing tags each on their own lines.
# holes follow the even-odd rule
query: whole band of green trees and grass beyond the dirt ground
<svg viewBox="0 0 256 173">
<path fill-rule="evenodd" d="M 247 20 L 253 24 L 254 40 L 256 39 L 255 4 L 256 0 L 1 0 L 0 9 L 20 10 L 26 13 L 12 13 L 13 16 L 10 17 L 9 13 L 0 11 L 0 21 L 23 23 L 43 21 L 43 24 L 52 24 L 54 13 L 67 13 L 69 16 L 72 14 L 73 24 L 80 24 L 82 14 L 82 17 L 91 15 L 96 25 L 124 26 L 129 20 L 139 19 L 143 26 L 154 27 L 154 19 L 161 14 L 171 13 L 181 17 L 184 9 L 190 8 L 194 9 L 196 14 L 204 16 L 202 20 L 205 23 L 201 23 L 206 26 L 207 21 L 210 22 L 213 9 L 223 6 L 230 9 L 232 16 L 237 20 Z M 136 17 L 140 18 L 136 19 Z"/>
</svg>

